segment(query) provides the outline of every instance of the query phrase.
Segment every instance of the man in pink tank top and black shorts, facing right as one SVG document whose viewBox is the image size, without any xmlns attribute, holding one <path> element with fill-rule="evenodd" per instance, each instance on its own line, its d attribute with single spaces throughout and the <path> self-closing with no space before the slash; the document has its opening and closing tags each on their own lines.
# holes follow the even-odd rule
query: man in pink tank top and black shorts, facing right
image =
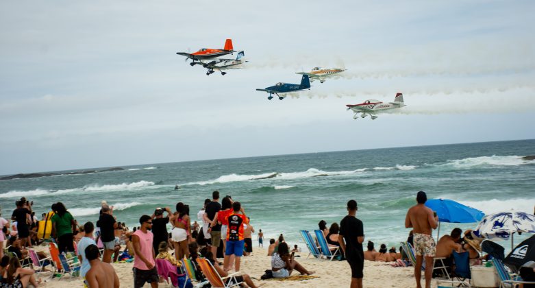
<svg viewBox="0 0 535 288">
<path fill-rule="evenodd" d="M 139 219 L 141 227 L 132 234 L 134 244 L 134 288 L 141 288 L 145 283 L 151 283 L 151 287 L 158 287 L 158 270 L 155 266 L 155 252 L 152 245 L 153 235 L 151 230 L 152 219 L 149 215 L 143 215 Z"/>
</svg>

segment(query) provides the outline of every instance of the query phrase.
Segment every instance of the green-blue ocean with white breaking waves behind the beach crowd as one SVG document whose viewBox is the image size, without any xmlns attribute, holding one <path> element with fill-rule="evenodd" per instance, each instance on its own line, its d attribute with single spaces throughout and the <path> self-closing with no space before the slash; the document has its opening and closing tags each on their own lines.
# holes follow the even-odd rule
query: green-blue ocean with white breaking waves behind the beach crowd
<svg viewBox="0 0 535 288">
<path fill-rule="evenodd" d="M 406 211 L 421 190 L 429 199 L 456 200 L 484 213 L 511 208 L 534 213 L 535 160 L 521 158 L 530 155 L 535 155 L 535 140 L 136 165 L 2 180 L 0 206 L 3 217 L 10 218 L 15 201 L 24 196 L 34 202 L 40 218 L 53 202 L 63 202 L 83 224 L 97 220 L 101 200 L 106 200 L 118 221 L 132 227 L 140 215 L 151 215 L 156 207 L 174 210 L 177 202 L 188 204 L 196 219 L 203 201 L 219 190 L 221 197 L 232 195 L 242 203 L 253 227 L 267 239 L 283 233 L 293 244 L 302 243 L 299 230 L 317 229 L 321 219 L 327 226 L 339 223 L 347 214 L 347 201 L 354 199 L 366 241 L 399 247 L 409 232 Z M 55 173 L 67 172 L 72 171 Z M 475 226 L 441 224 L 440 235 Z M 501 245 L 510 248 L 510 243 Z"/>
</svg>

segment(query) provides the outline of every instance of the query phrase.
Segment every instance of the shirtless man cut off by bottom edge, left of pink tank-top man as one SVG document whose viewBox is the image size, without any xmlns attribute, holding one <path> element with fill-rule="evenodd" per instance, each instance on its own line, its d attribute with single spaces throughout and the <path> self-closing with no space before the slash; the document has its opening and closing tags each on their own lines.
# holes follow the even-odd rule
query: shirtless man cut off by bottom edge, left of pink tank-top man
<svg viewBox="0 0 535 288">
<path fill-rule="evenodd" d="M 97 245 L 89 245 L 86 248 L 86 259 L 91 269 L 86 274 L 86 281 L 90 288 L 114 287 L 119 288 L 119 277 L 112 265 L 101 262 Z"/>
</svg>

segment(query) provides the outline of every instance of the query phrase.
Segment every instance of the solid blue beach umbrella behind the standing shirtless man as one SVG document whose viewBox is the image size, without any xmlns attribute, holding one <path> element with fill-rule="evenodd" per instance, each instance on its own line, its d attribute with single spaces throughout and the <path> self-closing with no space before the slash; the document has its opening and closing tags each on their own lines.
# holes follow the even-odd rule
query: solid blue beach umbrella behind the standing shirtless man
<svg viewBox="0 0 535 288">
<path fill-rule="evenodd" d="M 440 222 L 448 223 L 473 223 L 480 221 L 485 214 L 476 208 L 460 204 L 448 199 L 431 199 L 425 202 L 425 206 L 431 208 L 438 216 L 438 235 L 440 235 Z"/>
</svg>

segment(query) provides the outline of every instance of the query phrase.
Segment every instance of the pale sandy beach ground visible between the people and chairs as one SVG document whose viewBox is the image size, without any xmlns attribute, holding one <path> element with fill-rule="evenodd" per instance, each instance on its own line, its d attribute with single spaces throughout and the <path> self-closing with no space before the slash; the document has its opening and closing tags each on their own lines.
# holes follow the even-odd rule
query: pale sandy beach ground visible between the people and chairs
<svg viewBox="0 0 535 288">
<path fill-rule="evenodd" d="M 242 272 L 255 278 L 257 285 L 262 287 L 349 287 L 351 271 L 346 261 L 319 261 L 318 259 L 305 259 L 308 254 L 297 253 L 297 261 L 307 269 L 313 270 L 318 278 L 308 280 L 260 280 L 264 270 L 271 269 L 271 257 L 266 256 L 267 250 L 256 248 L 251 256 L 242 257 Z M 121 280 L 121 287 L 132 287 L 132 263 L 114 263 L 113 267 Z M 390 267 L 386 263 L 366 261 L 364 263 L 364 286 L 365 287 L 414 287 L 414 273 L 412 267 Z M 49 278 L 50 273 L 43 274 L 43 281 Z M 424 280 L 423 280 L 424 281 Z M 425 282 L 423 282 L 425 283 Z M 82 287 L 80 278 L 64 276 L 61 280 L 54 278 L 43 282 L 40 287 L 71 288 Z M 145 287 L 150 287 L 146 284 Z M 160 287 L 171 287 L 161 283 Z"/>
</svg>

